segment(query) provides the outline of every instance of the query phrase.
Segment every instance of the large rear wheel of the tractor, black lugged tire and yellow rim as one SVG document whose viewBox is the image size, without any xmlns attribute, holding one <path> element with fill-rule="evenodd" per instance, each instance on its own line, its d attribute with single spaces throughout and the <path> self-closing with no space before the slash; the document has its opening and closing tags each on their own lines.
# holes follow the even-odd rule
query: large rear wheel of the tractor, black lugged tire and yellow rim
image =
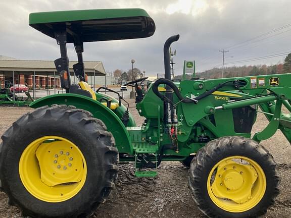
<svg viewBox="0 0 291 218">
<path fill-rule="evenodd" d="M 105 202 L 114 187 L 119 160 L 115 141 L 112 134 L 106 131 L 103 122 L 92 118 L 89 112 L 67 105 L 40 107 L 14 122 L 3 134 L 2 140 L 2 189 L 11 204 L 18 206 L 25 216 L 86 217 L 100 203 Z M 72 146 L 66 147 L 66 141 L 71 142 Z M 65 154 L 66 148 L 75 150 L 76 158 L 70 158 L 71 162 L 69 157 L 73 154 Z M 53 149 L 61 151 L 52 153 Z M 44 153 L 45 161 L 37 156 L 41 152 Z M 49 155 L 50 152 L 53 156 Z M 63 159 L 60 153 L 63 154 Z M 55 158 L 57 154 L 60 159 Z M 64 178 L 57 178 L 56 175 L 65 175 L 69 168 L 69 175 L 72 177 L 75 176 L 75 170 L 72 169 L 82 173 L 76 173 L 77 181 L 70 182 L 70 178 L 65 178 L 63 184 Z M 33 170 L 39 173 L 29 176 Z M 57 173 L 59 170 L 62 170 L 60 174 Z M 46 171 L 54 172 L 56 181 L 41 177 L 53 174 Z M 32 179 L 34 175 L 36 177 Z M 50 185 L 51 182 L 58 185 Z M 51 191 L 46 192 L 46 186 L 51 186 Z M 58 190 L 64 193 L 58 196 Z"/>
</svg>

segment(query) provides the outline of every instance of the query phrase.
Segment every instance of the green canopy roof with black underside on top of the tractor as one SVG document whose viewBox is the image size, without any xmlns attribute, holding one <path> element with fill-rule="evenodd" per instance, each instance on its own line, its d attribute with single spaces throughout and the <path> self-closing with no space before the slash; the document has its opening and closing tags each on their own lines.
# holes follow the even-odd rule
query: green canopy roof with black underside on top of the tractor
<svg viewBox="0 0 291 218">
<path fill-rule="evenodd" d="M 67 42 L 74 36 L 82 42 L 144 38 L 155 32 L 155 22 L 143 9 L 98 9 L 31 13 L 29 25 L 55 38 L 66 31 Z"/>
</svg>

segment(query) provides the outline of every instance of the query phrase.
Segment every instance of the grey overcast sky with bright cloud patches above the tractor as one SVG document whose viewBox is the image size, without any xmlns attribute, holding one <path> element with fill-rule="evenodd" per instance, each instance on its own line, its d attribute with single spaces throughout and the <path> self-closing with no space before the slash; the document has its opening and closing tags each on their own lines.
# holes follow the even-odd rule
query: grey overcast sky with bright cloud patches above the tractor
<svg viewBox="0 0 291 218">
<path fill-rule="evenodd" d="M 163 45 L 174 34 L 176 75 L 184 60 L 195 60 L 198 72 L 221 67 L 222 49 L 229 50 L 225 63 L 236 62 L 227 66 L 282 63 L 291 52 L 290 0 L 0 0 L 0 55 L 55 60 L 56 41 L 28 26 L 29 13 L 105 8 L 142 8 L 156 23 L 150 38 L 85 43 L 84 61 L 102 61 L 106 71 L 127 71 L 134 59 L 146 76 L 163 73 Z M 68 52 L 77 59 L 72 45 Z M 272 55 L 278 57 L 239 62 Z"/>
</svg>

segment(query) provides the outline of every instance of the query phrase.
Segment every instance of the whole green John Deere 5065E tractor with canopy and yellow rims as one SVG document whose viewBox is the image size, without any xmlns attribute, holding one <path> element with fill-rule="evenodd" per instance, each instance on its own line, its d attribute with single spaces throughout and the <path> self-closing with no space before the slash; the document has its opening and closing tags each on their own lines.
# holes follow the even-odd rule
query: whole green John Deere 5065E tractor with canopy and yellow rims
<svg viewBox="0 0 291 218">
<path fill-rule="evenodd" d="M 188 186 L 209 217 L 257 217 L 278 195 L 280 178 L 272 155 L 259 143 L 280 129 L 291 140 L 291 74 L 171 81 L 169 47 L 164 44 L 165 79 L 140 83 L 136 126 L 128 104 L 86 82 L 83 43 L 152 36 L 153 19 L 141 9 L 32 13 L 29 25 L 53 37 L 55 61 L 66 93 L 30 104 L 0 144 L 1 187 L 9 202 L 31 217 L 86 217 L 108 198 L 119 161 L 134 161 L 136 177 L 154 177 L 161 161 L 189 167 Z M 67 43 L 74 43 L 78 85 L 71 84 Z M 109 88 L 108 91 L 115 92 Z M 116 93 L 116 92 L 115 92 Z M 269 124 L 251 138 L 257 113 Z"/>
</svg>

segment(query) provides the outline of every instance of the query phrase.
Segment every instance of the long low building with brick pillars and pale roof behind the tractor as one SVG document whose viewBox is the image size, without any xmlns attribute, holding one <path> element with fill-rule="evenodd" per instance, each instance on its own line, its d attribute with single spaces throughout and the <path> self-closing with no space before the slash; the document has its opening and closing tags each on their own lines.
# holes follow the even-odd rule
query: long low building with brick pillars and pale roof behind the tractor
<svg viewBox="0 0 291 218">
<path fill-rule="evenodd" d="M 76 77 L 72 66 L 77 62 L 70 62 L 71 82 L 76 83 Z M 93 78 L 105 77 L 105 69 L 102 62 L 84 62 L 84 71 L 88 75 L 88 83 L 93 85 Z M 59 88 L 60 76 L 58 75 L 54 61 L 26 61 L 0 59 L 0 84 L 1 87 L 14 84 L 24 84 L 29 88 Z"/>
</svg>

